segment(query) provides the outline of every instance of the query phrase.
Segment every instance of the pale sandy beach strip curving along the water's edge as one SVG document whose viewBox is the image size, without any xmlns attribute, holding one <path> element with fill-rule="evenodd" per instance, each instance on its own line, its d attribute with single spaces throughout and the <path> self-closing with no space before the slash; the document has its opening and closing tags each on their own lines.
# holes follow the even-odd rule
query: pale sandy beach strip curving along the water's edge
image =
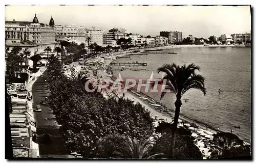
<svg viewBox="0 0 256 164">
<path fill-rule="evenodd" d="M 145 49 L 147 50 L 158 50 L 158 49 L 169 49 L 169 48 L 184 48 L 184 47 L 204 47 L 204 45 L 170 45 L 170 46 L 162 46 L 162 47 L 153 47 L 153 48 L 142 48 L 140 51 L 143 51 Z M 111 59 L 105 59 L 104 60 L 104 68 L 98 70 L 98 75 L 97 77 L 90 76 L 90 78 L 98 79 L 99 76 L 100 78 L 104 79 L 110 79 L 111 80 L 111 75 L 106 73 L 105 68 L 108 67 L 111 62 L 115 60 L 116 57 L 122 57 L 126 56 L 130 52 L 132 52 L 135 49 L 131 49 L 129 51 L 118 51 L 118 52 L 113 52 L 111 53 L 110 57 Z M 104 55 L 104 54 L 101 54 Z M 99 60 L 101 57 L 97 57 L 94 60 Z M 74 65 L 73 65 L 74 66 Z M 77 71 L 80 70 L 81 66 L 76 65 L 78 68 Z M 90 72 L 92 72 L 92 69 L 90 69 Z M 114 80 L 114 77 L 112 77 Z M 103 93 L 104 97 L 108 98 L 109 94 Z M 122 93 L 119 93 L 119 96 L 122 95 Z M 133 100 L 135 103 L 140 103 L 142 104 L 147 110 L 151 112 L 151 116 L 153 119 L 155 119 L 155 126 L 157 126 L 158 121 L 166 121 L 169 123 L 172 123 L 174 119 L 174 110 L 167 110 L 164 112 L 164 110 L 159 110 L 159 108 L 163 109 L 164 104 L 158 103 L 156 100 L 152 99 L 151 97 L 148 97 L 142 93 L 139 93 L 137 91 L 128 91 L 125 93 L 125 98 Z M 203 123 L 200 122 L 195 122 L 194 120 L 191 120 L 185 116 L 180 115 L 179 117 L 179 125 L 178 127 L 186 127 L 188 128 L 193 134 L 195 139 L 195 144 L 199 147 L 200 151 L 202 152 L 204 158 L 208 157 L 210 153 L 208 153 L 209 150 L 209 143 L 213 138 L 213 134 L 217 133 L 217 129 L 208 127 L 204 125 Z"/>
</svg>

